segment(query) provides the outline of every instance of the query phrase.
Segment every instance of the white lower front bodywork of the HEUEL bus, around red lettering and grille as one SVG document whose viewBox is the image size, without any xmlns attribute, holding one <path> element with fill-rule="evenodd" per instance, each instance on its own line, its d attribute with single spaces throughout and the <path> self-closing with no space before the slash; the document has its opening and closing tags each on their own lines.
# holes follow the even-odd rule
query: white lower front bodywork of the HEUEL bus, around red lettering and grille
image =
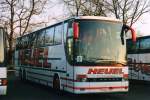
<svg viewBox="0 0 150 100">
<path fill-rule="evenodd" d="M 94 67 L 94 66 L 83 66 L 83 67 L 74 67 L 74 78 L 70 76 L 65 86 L 66 90 L 76 94 L 85 94 L 85 93 L 112 93 L 112 92 L 127 92 L 128 91 L 128 81 L 119 81 L 119 82 L 73 82 L 76 80 L 76 75 L 87 75 L 88 78 L 115 78 L 123 77 L 123 75 L 112 75 L 112 74 L 87 74 L 89 68 L 106 68 L 106 67 Z M 108 67 L 107 67 L 108 68 Z M 111 67 L 119 68 L 119 67 Z M 124 74 L 128 74 L 128 67 L 122 68 Z M 71 66 L 70 66 L 71 69 Z M 69 70 L 72 71 L 72 70 Z M 71 74 L 71 73 L 70 73 Z M 70 80 L 72 79 L 72 80 Z M 113 89 L 110 89 L 113 88 Z"/>
</svg>

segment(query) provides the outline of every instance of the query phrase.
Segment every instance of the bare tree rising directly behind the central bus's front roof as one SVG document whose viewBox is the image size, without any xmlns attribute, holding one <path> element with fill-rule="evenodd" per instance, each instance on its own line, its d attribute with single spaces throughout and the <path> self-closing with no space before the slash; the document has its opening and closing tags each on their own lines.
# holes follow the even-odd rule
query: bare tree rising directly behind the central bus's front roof
<svg viewBox="0 0 150 100">
<path fill-rule="evenodd" d="M 105 0 L 63 0 L 71 15 L 95 15 L 106 16 L 104 2 Z"/>
</svg>

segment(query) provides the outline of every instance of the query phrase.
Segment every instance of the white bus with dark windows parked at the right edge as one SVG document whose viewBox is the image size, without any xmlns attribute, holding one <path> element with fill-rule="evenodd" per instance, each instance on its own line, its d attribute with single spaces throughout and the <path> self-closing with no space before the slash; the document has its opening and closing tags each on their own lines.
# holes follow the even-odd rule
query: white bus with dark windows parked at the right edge
<svg viewBox="0 0 150 100">
<path fill-rule="evenodd" d="M 138 37 L 136 43 L 127 39 L 129 79 L 150 81 L 150 36 Z"/>
</svg>

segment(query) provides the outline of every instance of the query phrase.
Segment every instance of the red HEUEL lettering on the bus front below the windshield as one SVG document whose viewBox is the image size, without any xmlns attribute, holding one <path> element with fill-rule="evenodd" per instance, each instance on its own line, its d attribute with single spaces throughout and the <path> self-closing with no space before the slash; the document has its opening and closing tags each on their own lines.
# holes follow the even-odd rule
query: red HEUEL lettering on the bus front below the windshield
<svg viewBox="0 0 150 100">
<path fill-rule="evenodd" d="M 123 74 L 122 68 L 90 68 L 88 74 Z"/>
</svg>

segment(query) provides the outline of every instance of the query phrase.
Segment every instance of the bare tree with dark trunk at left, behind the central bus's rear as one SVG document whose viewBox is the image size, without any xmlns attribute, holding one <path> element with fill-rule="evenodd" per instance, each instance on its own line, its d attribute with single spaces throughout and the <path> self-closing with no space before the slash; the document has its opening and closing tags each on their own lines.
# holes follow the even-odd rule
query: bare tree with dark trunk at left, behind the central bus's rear
<svg viewBox="0 0 150 100">
<path fill-rule="evenodd" d="M 16 33 L 24 35 L 32 17 L 40 15 L 47 0 L 1 0 L 0 19 L 8 29 L 9 60 L 12 63 L 13 40 Z M 39 21 L 37 21 L 39 23 Z M 34 23 L 35 25 L 37 23 Z M 40 22 L 42 23 L 42 22 Z"/>
</svg>

